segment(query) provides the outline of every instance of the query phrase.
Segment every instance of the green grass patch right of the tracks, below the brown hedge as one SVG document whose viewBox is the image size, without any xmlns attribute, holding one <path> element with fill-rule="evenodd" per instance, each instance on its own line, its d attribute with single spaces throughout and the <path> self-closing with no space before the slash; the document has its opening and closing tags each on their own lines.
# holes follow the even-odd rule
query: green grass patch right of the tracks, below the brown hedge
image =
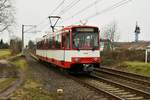
<svg viewBox="0 0 150 100">
<path fill-rule="evenodd" d="M 125 61 L 120 66 L 125 67 L 129 72 L 150 77 L 150 63 Z"/>
</svg>

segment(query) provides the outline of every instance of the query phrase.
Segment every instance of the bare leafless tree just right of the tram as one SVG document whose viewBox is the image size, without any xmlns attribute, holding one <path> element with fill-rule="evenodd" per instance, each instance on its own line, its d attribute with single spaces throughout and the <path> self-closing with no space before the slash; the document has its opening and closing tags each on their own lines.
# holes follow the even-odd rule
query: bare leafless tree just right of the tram
<svg viewBox="0 0 150 100">
<path fill-rule="evenodd" d="M 113 50 L 113 43 L 117 42 L 120 38 L 120 34 L 117 32 L 117 23 L 115 21 L 113 21 L 103 29 L 102 37 L 105 40 L 109 40 L 109 43 L 107 44 L 110 45 L 110 48 Z"/>
</svg>

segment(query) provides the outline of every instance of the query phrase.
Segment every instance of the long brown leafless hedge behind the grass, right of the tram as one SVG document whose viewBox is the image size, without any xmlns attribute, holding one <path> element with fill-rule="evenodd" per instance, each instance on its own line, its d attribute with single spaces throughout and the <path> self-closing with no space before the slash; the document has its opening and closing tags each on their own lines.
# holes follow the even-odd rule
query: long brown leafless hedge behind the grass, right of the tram
<svg viewBox="0 0 150 100">
<path fill-rule="evenodd" d="M 145 61 L 144 50 L 120 50 L 102 52 L 101 57 L 104 65 L 117 64 L 122 61 Z M 148 61 L 150 61 L 150 53 L 148 53 Z"/>
</svg>

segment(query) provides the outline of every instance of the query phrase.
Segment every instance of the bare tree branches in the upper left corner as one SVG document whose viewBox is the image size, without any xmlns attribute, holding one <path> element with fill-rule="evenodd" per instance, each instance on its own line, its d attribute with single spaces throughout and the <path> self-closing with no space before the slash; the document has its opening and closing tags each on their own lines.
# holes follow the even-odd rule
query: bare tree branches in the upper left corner
<svg viewBox="0 0 150 100">
<path fill-rule="evenodd" d="M 14 22 L 13 0 L 0 0 L 0 33 L 10 31 Z"/>
</svg>

